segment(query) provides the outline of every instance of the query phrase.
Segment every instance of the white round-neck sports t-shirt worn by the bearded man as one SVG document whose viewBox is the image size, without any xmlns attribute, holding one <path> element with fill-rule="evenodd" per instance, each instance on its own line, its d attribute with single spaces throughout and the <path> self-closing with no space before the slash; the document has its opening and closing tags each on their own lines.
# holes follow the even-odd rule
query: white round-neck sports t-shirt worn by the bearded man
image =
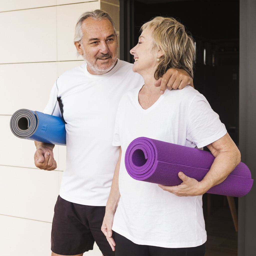
<svg viewBox="0 0 256 256">
<path fill-rule="evenodd" d="M 54 84 L 44 113 L 66 122 L 67 166 L 60 197 L 77 204 L 105 206 L 118 160 L 112 146 L 122 95 L 144 84 L 133 64 L 118 60 L 106 74 L 92 75 L 86 63 L 63 73 Z"/>
</svg>

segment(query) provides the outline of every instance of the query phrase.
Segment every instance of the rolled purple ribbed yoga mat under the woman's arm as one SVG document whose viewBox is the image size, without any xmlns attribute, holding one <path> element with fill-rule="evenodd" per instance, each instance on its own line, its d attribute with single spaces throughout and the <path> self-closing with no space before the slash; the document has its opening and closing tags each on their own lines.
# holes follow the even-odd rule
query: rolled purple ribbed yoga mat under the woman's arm
<svg viewBox="0 0 256 256">
<path fill-rule="evenodd" d="M 139 137 L 133 140 L 125 152 L 125 167 L 129 175 L 167 186 L 182 183 L 178 172 L 198 181 L 209 171 L 214 156 L 207 151 L 168 142 Z M 252 187 L 249 168 L 242 162 L 220 184 L 207 193 L 225 196 L 244 196 Z"/>
</svg>

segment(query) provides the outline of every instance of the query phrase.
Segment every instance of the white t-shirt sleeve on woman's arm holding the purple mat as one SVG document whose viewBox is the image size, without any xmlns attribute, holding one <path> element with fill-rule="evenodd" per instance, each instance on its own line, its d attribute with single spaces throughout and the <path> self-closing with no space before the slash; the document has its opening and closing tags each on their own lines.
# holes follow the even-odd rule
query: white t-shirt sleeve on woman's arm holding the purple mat
<svg viewBox="0 0 256 256">
<path fill-rule="evenodd" d="M 197 95 L 188 111 L 187 140 L 201 148 L 217 141 L 226 133 L 219 115 L 212 110 L 202 94 Z"/>
</svg>

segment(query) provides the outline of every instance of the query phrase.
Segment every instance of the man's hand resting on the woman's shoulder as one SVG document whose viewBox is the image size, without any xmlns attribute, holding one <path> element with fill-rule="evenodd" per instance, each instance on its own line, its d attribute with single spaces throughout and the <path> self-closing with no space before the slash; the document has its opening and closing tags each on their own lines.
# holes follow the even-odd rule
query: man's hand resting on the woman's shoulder
<svg viewBox="0 0 256 256">
<path fill-rule="evenodd" d="M 193 79 L 189 76 L 188 72 L 184 69 L 170 68 L 166 71 L 162 78 L 155 83 L 156 87 L 160 86 L 160 93 L 163 94 L 166 88 L 183 89 L 186 85 L 190 85 L 194 88 Z"/>
</svg>

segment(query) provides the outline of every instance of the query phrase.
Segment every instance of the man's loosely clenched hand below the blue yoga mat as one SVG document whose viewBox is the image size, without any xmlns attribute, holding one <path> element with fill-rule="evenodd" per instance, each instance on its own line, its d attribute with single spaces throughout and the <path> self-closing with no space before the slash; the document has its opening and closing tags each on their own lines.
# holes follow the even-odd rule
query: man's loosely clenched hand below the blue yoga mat
<svg viewBox="0 0 256 256">
<path fill-rule="evenodd" d="M 35 165 L 39 169 L 51 171 L 57 168 L 57 163 L 54 160 L 52 149 L 54 145 L 52 146 L 45 146 L 46 143 L 39 144 L 37 142 L 37 150 L 34 155 Z"/>
</svg>

